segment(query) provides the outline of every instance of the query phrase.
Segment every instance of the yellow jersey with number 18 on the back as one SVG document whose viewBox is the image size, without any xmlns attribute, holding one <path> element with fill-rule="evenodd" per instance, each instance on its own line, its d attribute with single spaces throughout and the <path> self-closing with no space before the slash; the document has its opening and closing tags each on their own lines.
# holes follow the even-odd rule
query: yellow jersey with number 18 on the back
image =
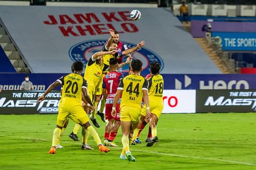
<svg viewBox="0 0 256 170">
<path fill-rule="evenodd" d="M 163 77 L 161 75 L 153 75 L 148 80 L 148 95 L 150 100 L 163 101 Z"/>
</svg>

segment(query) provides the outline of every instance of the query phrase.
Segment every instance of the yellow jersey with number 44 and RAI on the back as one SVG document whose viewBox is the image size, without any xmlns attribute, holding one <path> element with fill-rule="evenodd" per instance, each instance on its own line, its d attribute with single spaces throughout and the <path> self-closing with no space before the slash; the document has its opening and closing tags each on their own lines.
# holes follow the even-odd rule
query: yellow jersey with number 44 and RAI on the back
<svg viewBox="0 0 256 170">
<path fill-rule="evenodd" d="M 148 81 L 139 75 L 129 75 L 124 77 L 118 86 L 118 90 L 123 90 L 120 108 L 131 106 L 141 108 L 143 98 L 142 90 L 147 90 Z"/>
</svg>

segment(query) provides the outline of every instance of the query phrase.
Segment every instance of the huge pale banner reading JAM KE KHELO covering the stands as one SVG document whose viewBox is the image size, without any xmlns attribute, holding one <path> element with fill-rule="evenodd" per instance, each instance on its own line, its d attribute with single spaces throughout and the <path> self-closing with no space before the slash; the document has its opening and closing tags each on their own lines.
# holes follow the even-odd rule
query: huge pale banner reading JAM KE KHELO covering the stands
<svg viewBox="0 0 256 170">
<path fill-rule="evenodd" d="M 73 61 L 84 65 L 119 32 L 129 47 L 145 46 L 132 55 L 162 65 L 162 74 L 220 74 L 180 21 L 166 9 L 139 8 L 142 18 L 130 19 L 132 8 L 1 6 L 0 17 L 33 73 L 70 72 Z M 124 68 L 127 71 L 127 67 Z"/>
</svg>

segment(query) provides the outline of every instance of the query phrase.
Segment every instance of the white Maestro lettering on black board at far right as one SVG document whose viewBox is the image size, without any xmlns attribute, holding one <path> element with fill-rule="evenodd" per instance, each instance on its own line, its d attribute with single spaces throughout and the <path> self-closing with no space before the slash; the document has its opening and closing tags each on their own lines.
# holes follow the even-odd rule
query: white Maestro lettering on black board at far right
<svg viewBox="0 0 256 170">
<path fill-rule="evenodd" d="M 213 96 L 208 96 L 204 106 L 250 106 L 256 110 L 256 99 L 225 99 L 225 96 L 220 96 L 214 100 Z"/>
</svg>

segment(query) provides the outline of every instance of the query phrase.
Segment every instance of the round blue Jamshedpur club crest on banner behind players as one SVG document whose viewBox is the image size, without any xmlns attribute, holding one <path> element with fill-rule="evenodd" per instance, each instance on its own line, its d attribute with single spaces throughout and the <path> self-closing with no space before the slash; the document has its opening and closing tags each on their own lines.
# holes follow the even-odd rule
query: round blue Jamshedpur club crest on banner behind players
<svg viewBox="0 0 256 170">
<path fill-rule="evenodd" d="M 69 50 L 69 57 L 72 61 L 82 61 L 84 67 L 86 66 L 88 60 L 92 57 L 92 55 L 96 52 L 101 51 L 103 45 L 106 43 L 107 40 L 99 39 L 99 40 L 91 40 L 91 41 L 82 41 L 75 45 L 73 45 Z M 128 48 L 135 47 L 136 44 L 122 41 L 124 44 L 127 45 Z M 145 47 L 133 52 L 132 54 L 133 59 L 139 59 L 142 61 L 143 70 L 142 74 L 149 74 L 150 73 L 150 63 L 153 61 L 157 61 L 161 64 L 161 70 L 164 67 L 163 60 L 160 58 L 159 55 L 148 50 Z M 126 57 L 123 58 L 123 62 L 126 61 Z M 129 71 L 129 65 L 125 65 L 122 68 L 123 72 Z"/>
</svg>

